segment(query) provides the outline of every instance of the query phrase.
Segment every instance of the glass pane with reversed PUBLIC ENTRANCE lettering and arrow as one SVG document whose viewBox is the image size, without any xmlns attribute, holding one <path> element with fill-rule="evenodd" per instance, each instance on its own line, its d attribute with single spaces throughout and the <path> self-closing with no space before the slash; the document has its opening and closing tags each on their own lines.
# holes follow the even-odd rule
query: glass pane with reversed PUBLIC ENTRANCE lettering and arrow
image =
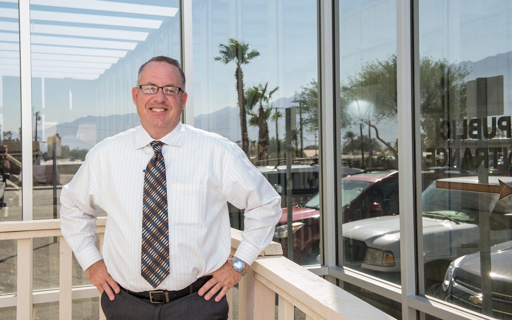
<svg viewBox="0 0 512 320">
<path fill-rule="evenodd" d="M 424 291 L 499 319 L 512 314 L 508 1 L 419 2 L 420 243 Z M 421 273 L 420 273 L 421 274 Z"/>
</svg>

